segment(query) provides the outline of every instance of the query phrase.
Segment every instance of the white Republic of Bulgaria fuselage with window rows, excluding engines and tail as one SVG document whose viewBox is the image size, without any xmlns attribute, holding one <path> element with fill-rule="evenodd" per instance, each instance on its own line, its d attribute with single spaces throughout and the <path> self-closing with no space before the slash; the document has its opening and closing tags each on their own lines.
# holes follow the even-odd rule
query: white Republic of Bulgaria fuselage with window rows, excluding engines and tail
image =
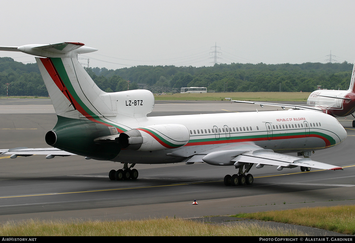
<svg viewBox="0 0 355 243">
<path fill-rule="evenodd" d="M 245 142 L 275 152 L 314 151 L 332 147 L 346 138 L 346 131 L 334 117 L 300 110 L 147 117 L 139 122 L 130 119 L 129 124 L 127 130 L 182 124 L 190 132 L 189 142 L 180 148 L 157 151 L 132 153 L 122 149 L 114 161 L 177 163 L 208 149 Z"/>
</svg>

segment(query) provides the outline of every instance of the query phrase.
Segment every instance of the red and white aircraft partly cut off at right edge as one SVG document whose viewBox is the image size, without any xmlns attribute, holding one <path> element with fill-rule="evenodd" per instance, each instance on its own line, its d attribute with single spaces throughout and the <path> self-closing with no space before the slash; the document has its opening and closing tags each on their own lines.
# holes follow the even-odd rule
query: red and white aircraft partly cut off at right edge
<svg viewBox="0 0 355 243">
<path fill-rule="evenodd" d="M 279 106 L 282 109 L 285 107 L 300 110 L 320 111 L 333 117 L 346 117 L 352 115 L 355 118 L 355 63 L 353 67 L 353 74 L 351 75 L 350 86 L 348 90 L 316 90 L 313 91 L 307 99 L 306 106 L 278 104 L 278 103 L 263 103 L 254 101 L 238 101 L 238 103 L 251 103 L 268 106 Z M 355 121 L 353 121 L 353 128 L 355 128 Z"/>
</svg>

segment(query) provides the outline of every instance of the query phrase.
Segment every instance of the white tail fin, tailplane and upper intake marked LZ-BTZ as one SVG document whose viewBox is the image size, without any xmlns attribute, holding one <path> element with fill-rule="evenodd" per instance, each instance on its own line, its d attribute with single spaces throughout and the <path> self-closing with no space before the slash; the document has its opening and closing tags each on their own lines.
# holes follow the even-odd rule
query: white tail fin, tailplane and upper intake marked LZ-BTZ
<svg viewBox="0 0 355 243">
<path fill-rule="evenodd" d="M 21 51 L 36 57 L 57 115 L 109 124 L 113 117 L 145 117 L 153 110 L 148 90 L 102 91 L 78 62 L 79 53 L 97 51 L 79 42 L 0 46 L 0 51 Z M 118 120 L 118 119 L 115 119 Z M 108 125 L 109 126 L 109 125 Z"/>
</svg>

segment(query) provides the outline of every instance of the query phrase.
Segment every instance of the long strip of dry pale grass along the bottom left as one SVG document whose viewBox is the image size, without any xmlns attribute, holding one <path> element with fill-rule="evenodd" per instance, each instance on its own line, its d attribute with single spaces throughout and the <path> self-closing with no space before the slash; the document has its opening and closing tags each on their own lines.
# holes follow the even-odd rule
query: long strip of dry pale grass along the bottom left
<svg viewBox="0 0 355 243">
<path fill-rule="evenodd" d="M 212 225 L 182 219 L 140 221 L 7 222 L 1 236 L 305 236 L 296 230 L 261 227 L 255 223 Z"/>
</svg>

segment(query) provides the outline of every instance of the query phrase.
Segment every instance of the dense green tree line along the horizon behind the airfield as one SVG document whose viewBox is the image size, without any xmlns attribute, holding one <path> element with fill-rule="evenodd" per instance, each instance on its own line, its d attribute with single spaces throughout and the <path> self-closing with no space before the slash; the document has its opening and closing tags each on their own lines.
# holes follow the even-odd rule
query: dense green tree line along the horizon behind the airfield
<svg viewBox="0 0 355 243">
<path fill-rule="evenodd" d="M 215 64 L 212 67 L 135 66 L 107 69 L 85 68 L 100 89 L 117 92 L 138 84 L 167 87 L 207 87 L 218 92 L 311 92 L 322 85 L 326 89 L 346 90 L 353 64 Z M 36 63 L 23 64 L 0 57 L 0 95 L 48 96 Z"/>
</svg>

